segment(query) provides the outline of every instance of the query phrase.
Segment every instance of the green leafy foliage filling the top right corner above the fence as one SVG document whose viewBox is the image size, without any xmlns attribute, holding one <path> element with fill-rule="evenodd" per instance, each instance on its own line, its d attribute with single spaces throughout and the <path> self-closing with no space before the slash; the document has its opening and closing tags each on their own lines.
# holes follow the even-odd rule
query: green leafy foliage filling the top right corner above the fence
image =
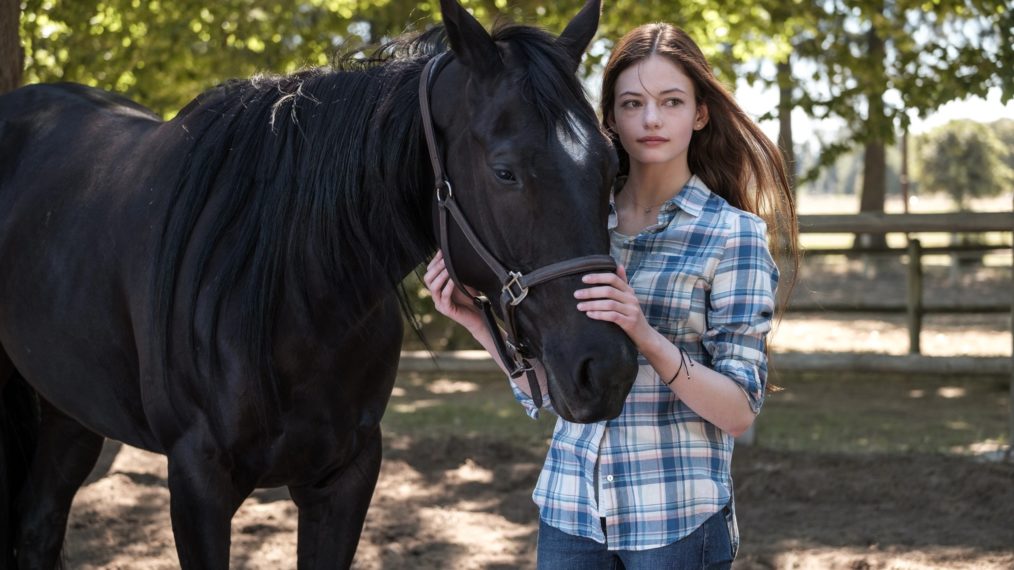
<svg viewBox="0 0 1014 570">
<path fill-rule="evenodd" d="M 890 143 L 894 127 L 908 126 L 910 113 L 925 117 L 994 87 L 1010 99 L 1014 12 L 1006 4 L 821 2 L 816 27 L 796 39 L 800 57 L 810 64 L 799 105 L 816 119 L 844 119 L 856 142 Z M 882 110 L 873 109 L 878 104 Z"/>
</svg>

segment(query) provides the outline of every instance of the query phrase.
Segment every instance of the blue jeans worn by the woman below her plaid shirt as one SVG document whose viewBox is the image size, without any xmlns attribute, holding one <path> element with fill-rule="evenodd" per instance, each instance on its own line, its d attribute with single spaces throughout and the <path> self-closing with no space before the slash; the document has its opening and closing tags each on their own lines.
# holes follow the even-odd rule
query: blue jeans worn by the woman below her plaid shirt
<svg viewBox="0 0 1014 570">
<path fill-rule="evenodd" d="M 538 570 L 727 570 L 732 542 L 725 510 L 683 539 L 643 551 L 608 551 L 591 539 L 568 535 L 539 520 Z"/>
</svg>

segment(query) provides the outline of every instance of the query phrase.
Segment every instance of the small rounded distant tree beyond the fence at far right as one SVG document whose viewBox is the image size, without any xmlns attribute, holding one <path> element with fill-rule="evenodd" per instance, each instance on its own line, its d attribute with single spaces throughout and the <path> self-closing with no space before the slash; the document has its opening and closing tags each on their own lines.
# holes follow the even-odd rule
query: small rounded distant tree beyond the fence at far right
<svg viewBox="0 0 1014 570">
<path fill-rule="evenodd" d="M 994 129 L 973 121 L 952 121 L 919 140 L 920 189 L 946 194 L 966 210 L 969 200 L 997 196 L 1014 185 L 1005 163 L 1010 148 Z"/>
</svg>

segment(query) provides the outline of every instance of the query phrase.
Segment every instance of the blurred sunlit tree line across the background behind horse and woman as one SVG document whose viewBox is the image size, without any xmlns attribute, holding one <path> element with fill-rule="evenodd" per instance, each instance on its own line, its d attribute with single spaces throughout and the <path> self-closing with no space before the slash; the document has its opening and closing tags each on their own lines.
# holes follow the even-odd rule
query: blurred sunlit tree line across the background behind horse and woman
<svg viewBox="0 0 1014 570">
<path fill-rule="evenodd" d="M 504 18 L 560 31 L 583 1 L 462 3 L 488 25 Z M 437 18 L 438 0 L 0 0 L 0 93 L 77 81 L 171 117 L 227 78 L 327 65 Z M 862 170 L 849 175 L 863 211 L 883 210 L 887 149 L 911 117 L 993 88 L 1014 96 L 1009 0 L 618 0 L 603 7 L 582 72 L 599 70 L 626 30 L 655 20 L 691 33 L 730 88 L 741 77 L 778 90 L 762 119 L 779 121 L 779 145 L 803 180 L 860 153 Z M 845 126 L 805 170 L 795 109 Z"/>
</svg>

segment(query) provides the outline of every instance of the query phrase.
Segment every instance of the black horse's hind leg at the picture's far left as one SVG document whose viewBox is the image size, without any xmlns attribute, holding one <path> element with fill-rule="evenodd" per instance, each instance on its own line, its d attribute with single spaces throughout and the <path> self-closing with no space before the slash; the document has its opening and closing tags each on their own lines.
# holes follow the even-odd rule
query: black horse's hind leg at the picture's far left
<svg viewBox="0 0 1014 570">
<path fill-rule="evenodd" d="M 101 435 L 40 401 L 42 423 L 31 472 L 18 499 L 20 568 L 57 568 L 74 494 L 102 450 Z"/>
</svg>

